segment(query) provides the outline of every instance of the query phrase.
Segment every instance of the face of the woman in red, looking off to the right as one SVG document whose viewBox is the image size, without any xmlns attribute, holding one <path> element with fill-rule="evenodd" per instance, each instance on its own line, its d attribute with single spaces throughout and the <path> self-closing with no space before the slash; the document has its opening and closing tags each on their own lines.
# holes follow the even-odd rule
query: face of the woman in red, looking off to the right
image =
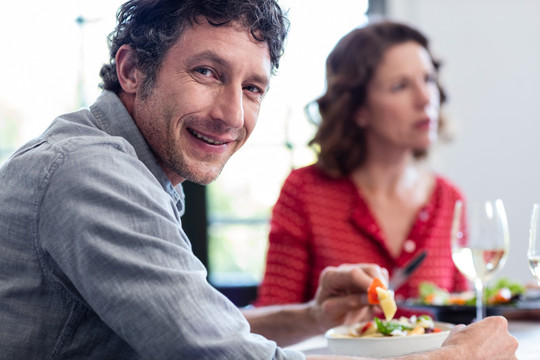
<svg viewBox="0 0 540 360">
<path fill-rule="evenodd" d="M 368 86 L 357 123 L 368 147 L 425 150 L 437 140 L 440 94 L 431 57 L 409 41 L 386 50 Z"/>
</svg>

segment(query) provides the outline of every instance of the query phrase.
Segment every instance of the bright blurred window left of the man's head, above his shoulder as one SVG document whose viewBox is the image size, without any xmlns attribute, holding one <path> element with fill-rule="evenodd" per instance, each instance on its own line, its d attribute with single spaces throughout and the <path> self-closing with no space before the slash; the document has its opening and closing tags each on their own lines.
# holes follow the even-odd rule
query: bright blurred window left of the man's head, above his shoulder
<svg viewBox="0 0 540 360">
<path fill-rule="evenodd" d="M 91 104 L 122 0 L 0 2 L 0 164 L 58 115 Z"/>
</svg>

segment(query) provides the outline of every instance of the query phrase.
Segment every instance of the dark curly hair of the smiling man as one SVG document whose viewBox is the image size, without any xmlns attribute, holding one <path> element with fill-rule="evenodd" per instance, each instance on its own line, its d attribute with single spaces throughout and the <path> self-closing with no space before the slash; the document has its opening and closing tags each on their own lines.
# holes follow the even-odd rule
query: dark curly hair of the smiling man
<svg viewBox="0 0 540 360">
<path fill-rule="evenodd" d="M 110 61 L 101 68 L 101 88 L 117 94 L 122 91 L 115 57 L 127 44 L 145 74 L 141 95 L 148 96 L 167 51 L 188 26 L 201 19 L 214 26 L 239 22 L 249 29 L 256 40 L 268 44 L 275 74 L 289 30 L 289 21 L 277 0 L 130 0 L 118 10 L 117 26 L 108 38 Z"/>
</svg>

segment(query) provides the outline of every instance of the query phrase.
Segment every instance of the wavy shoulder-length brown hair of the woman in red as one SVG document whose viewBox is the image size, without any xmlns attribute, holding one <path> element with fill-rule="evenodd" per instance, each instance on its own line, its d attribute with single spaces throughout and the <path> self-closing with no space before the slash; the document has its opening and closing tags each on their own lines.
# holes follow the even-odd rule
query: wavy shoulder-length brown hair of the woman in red
<svg viewBox="0 0 540 360">
<path fill-rule="evenodd" d="M 326 92 L 316 100 L 321 121 L 310 145 L 318 147 L 318 166 L 333 176 L 347 176 L 361 166 L 367 156 L 364 129 L 356 124 L 355 112 L 366 103 L 367 88 L 384 52 L 408 41 L 429 52 L 429 41 L 408 25 L 383 21 L 357 28 L 345 35 L 326 60 Z M 431 55 L 438 74 L 440 63 Z M 440 103 L 446 94 L 437 79 Z M 309 105 L 308 105 L 309 106 Z M 439 132 L 444 131 L 440 116 Z M 427 155 L 425 150 L 415 157 Z"/>
</svg>

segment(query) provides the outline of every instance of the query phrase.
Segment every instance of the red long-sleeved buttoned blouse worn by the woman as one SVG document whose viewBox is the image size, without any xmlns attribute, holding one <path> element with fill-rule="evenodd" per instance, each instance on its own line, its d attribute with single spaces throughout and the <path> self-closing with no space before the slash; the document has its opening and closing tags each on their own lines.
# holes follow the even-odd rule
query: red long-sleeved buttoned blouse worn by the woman
<svg viewBox="0 0 540 360">
<path fill-rule="evenodd" d="M 394 258 L 352 180 L 331 178 L 315 165 L 292 171 L 273 209 L 266 270 L 255 305 L 311 300 L 319 274 L 327 266 L 377 263 L 392 274 L 422 249 L 428 256 L 396 297 L 418 296 L 422 281 L 449 291 L 468 289 L 450 248 L 457 199 L 463 199 L 459 189 L 436 176 L 431 198 L 419 211 L 401 254 Z"/>
</svg>

